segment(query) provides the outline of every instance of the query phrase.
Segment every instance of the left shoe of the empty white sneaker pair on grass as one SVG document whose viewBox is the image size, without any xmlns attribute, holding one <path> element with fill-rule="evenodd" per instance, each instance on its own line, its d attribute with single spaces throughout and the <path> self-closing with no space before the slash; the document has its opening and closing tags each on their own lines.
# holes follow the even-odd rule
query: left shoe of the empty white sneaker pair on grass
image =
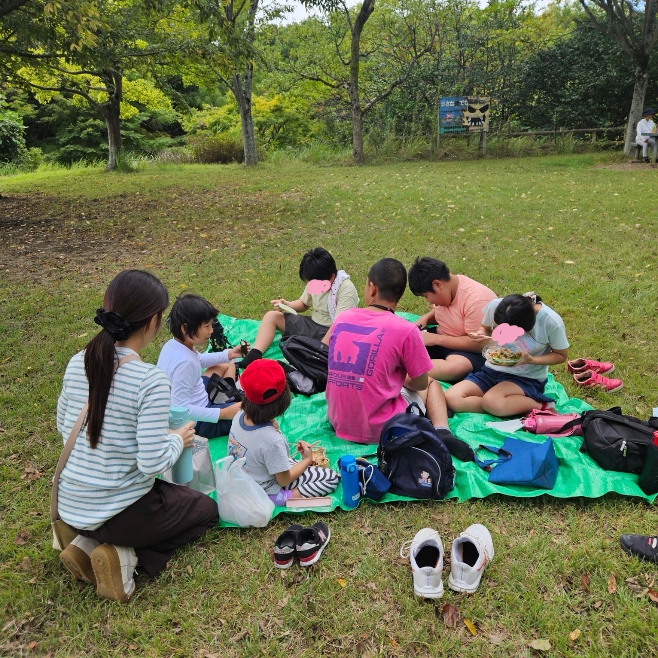
<svg viewBox="0 0 658 658">
<path fill-rule="evenodd" d="M 436 530 L 419 530 L 413 540 L 402 545 L 400 555 L 409 557 L 413 590 L 418 596 L 438 599 L 443 595 L 443 544 Z"/>
</svg>

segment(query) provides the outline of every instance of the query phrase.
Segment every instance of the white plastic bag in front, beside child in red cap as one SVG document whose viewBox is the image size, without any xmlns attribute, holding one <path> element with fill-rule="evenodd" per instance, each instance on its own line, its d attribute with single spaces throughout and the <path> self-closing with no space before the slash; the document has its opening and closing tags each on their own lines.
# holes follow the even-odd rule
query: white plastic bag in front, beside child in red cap
<svg viewBox="0 0 658 658">
<path fill-rule="evenodd" d="M 245 458 L 224 457 L 215 462 L 219 518 L 242 528 L 265 528 L 274 503 L 263 487 L 244 472 Z"/>
</svg>

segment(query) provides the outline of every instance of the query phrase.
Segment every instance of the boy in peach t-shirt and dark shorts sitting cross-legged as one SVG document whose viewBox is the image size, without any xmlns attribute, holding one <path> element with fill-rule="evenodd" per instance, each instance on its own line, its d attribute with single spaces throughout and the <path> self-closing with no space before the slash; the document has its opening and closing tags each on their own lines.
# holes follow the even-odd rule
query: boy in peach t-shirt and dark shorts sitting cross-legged
<svg viewBox="0 0 658 658">
<path fill-rule="evenodd" d="M 497 298 L 496 293 L 468 276 L 451 274 L 443 261 L 428 257 L 417 258 L 411 266 L 409 289 L 432 305 L 418 318 L 417 326 L 437 325 L 421 334 L 432 359 L 430 376 L 441 382 L 459 382 L 482 370 L 482 343 L 469 334 L 480 330 L 484 307 Z"/>
</svg>

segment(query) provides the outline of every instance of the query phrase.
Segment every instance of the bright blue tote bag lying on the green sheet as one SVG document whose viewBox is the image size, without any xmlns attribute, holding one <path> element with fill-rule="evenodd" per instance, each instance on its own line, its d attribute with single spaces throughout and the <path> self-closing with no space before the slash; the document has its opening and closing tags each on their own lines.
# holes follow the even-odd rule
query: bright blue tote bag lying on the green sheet
<svg viewBox="0 0 658 658">
<path fill-rule="evenodd" d="M 492 484 L 518 484 L 536 489 L 555 486 L 558 464 L 553 439 L 532 443 L 508 436 L 501 448 L 491 445 L 480 445 L 478 450 L 480 448 L 498 455 L 497 459 L 475 459 L 480 468 L 491 469 L 489 482 Z"/>
</svg>

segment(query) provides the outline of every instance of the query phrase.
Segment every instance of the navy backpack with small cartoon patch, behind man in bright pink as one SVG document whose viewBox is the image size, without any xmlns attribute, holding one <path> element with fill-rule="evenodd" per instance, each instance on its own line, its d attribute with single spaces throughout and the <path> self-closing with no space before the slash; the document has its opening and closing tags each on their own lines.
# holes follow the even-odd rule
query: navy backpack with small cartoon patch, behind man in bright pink
<svg viewBox="0 0 658 658">
<path fill-rule="evenodd" d="M 442 500 L 455 486 L 445 443 L 427 418 L 414 413 L 396 414 L 384 425 L 377 465 L 398 495 Z"/>
</svg>

